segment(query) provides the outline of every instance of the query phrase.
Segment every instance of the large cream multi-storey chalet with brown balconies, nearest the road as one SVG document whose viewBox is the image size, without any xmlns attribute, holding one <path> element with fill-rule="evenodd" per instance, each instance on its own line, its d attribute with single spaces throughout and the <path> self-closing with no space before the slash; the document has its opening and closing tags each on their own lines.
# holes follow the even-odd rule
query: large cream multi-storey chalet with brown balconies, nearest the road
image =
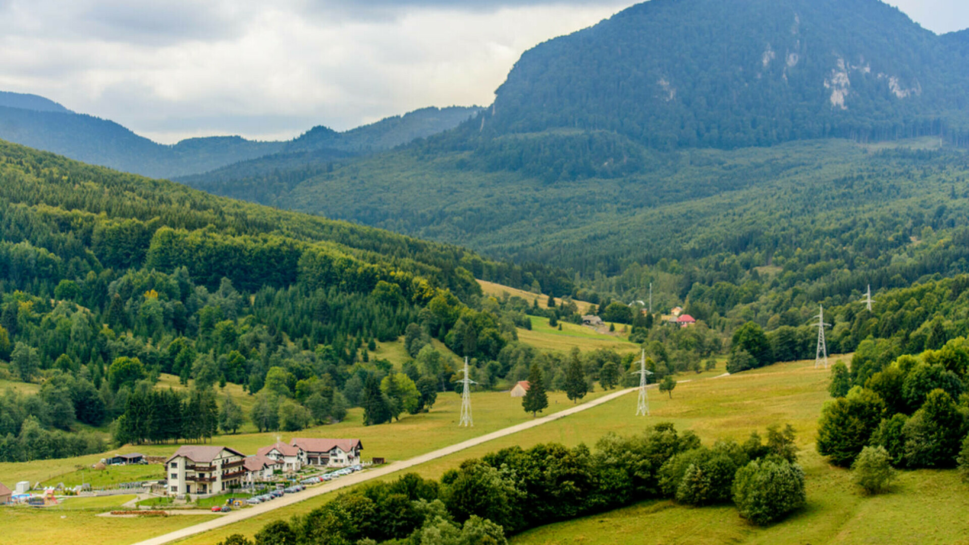
<svg viewBox="0 0 969 545">
<path fill-rule="evenodd" d="M 238 488 L 245 476 L 245 455 L 223 446 L 180 447 L 165 461 L 169 493 L 221 494 Z"/>
</svg>

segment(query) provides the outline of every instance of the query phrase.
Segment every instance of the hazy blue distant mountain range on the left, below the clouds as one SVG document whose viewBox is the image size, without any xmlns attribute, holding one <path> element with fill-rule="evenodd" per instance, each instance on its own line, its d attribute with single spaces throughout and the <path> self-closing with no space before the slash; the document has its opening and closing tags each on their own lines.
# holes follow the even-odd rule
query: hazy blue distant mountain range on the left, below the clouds
<svg viewBox="0 0 969 545">
<path fill-rule="evenodd" d="M 453 128 L 471 108 L 428 108 L 388 117 L 345 133 L 316 127 L 291 142 L 253 142 L 241 137 L 208 137 L 156 144 L 107 119 L 75 113 L 36 95 L 0 93 L 0 139 L 60 153 L 96 165 L 154 177 L 189 176 L 234 163 L 274 155 L 283 165 L 320 162 L 320 152 L 336 157 L 389 149 Z M 301 155 L 300 155 L 301 154 Z M 278 168 L 280 158 L 268 163 Z M 292 160 L 291 160 L 292 159 Z"/>
</svg>

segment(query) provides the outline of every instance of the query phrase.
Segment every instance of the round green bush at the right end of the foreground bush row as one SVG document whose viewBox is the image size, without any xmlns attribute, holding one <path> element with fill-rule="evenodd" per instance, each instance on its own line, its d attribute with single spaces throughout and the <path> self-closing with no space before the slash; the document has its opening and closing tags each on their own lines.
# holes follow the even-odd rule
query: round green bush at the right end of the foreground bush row
<svg viewBox="0 0 969 545">
<path fill-rule="evenodd" d="M 736 472 L 734 502 L 740 516 L 755 525 L 778 521 L 806 501 L 804 470 L 800 465 L 767 457 Z"/>
</svg>

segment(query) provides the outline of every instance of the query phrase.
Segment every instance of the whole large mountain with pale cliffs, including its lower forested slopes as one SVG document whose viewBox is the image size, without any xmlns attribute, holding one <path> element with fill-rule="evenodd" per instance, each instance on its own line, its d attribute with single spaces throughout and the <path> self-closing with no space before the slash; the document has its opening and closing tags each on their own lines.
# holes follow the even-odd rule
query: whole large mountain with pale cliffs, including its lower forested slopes
<svg viewBox="0 0 969 545">
<path fill-rule="evenodd" d="M 912 240 L 969 225 L 953 147 L 967 43 L 875 0 L 653 0 L 527 51 L 452 131 L 193 184 L 569 269 L 600 293 L 641 298 L 671 274 L 684 298 L 779 266 L 816 301 L 965 270 L 957 247 Z"/>
</svg>

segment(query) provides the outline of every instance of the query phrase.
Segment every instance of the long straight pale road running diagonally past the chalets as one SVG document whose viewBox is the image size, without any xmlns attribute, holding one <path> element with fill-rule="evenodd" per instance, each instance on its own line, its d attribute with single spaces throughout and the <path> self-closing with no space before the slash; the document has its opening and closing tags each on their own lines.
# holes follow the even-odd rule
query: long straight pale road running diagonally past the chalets
<svg viewBox="0 0 969 545">
<path fill-rule="evenodd" d="M 650 386 L 654 387 L 655 385 L 650 385 Z M 505 435 L 511 435 L 512 433 L 522 432 L 522 431 L 528 430 L 529 428 L 542 426 L 543 424 L 547 424 L 549 422 L 558 420 L 560 418 L 565 418 L 566 416 L 569 416 L 571 414 L 576 414 L 577 412 L 590 409 L 594 406 L 612 401 L 620 396 L 625 396 L 626 394 L 629 394 L 630 392 L 635 392 L 635 391 L 636 391 L 636 388 L 620 390 L 618 392 L 614 392 L 607 396 L 603 396 L 602 398 L 598 398 L 593 401 L 587 401 L 580 405 L 576 405 L 574 407 L 561 410 L 553 414 L 549 414 L 548 416 L 543 416 L 542 418 L 536 418 L 535 420 L 529 420 L 528 422 L 523 422 L 521 424 L 512 426 L 510 428 L 498 430 L 497 432 L 487 433 L 480 437 L 475 437 L 473 439 L 461 441 L 451 446 L 444 447 L 442 449 L 438 449 L 432 452 L 428 452 L 427 454 L 422 454 L 421 456 L 416 456 L 409 460 L 392 462 L 391 464 L 383 465 L 376 469 L 369 469 L 367 471 L 353 473 L 345 477 L 341 477 L 335 481 L 330 481 L 326 484 L 306 489 L 305 491 L 297 494 L 288 494 L 284 497 L 273 499 L 272 501 L 261 503 L 259 505 L 254 505 L 247 509 L 241 509 L 238 511 L 233 511 L 226 515 L 217 516 L 217 518 L 213 518 L 212 520 L 205 521 L 203 523 L 190 526 L 188 528 L 176 529 L 175 531 L 166 533 L 164 535 L 159 535 L 158 537 L 152 537 L 151 539 L 145 539 L 144 541 L 139 541 L 134 545 L 163 545 L 165 543 L 171 543 L 172 541 L 183 539 L 190 535 L 202 533 L 203 531 L 229 526 L 239 521 L 243 521 L 251 517 L 262 515 L 263 513 L 267 513 L 269 511 L 272 511 L 273 509 L 278 509 L 280 507 L 285 507 L 286 505 L 292 505 L 294 503 L 298 503 L 305 499 L 309 499 L 310 497 L 317 497 L 322 494 L 328 494 L 335 490 L 347 488 L 349 486 L 353 486 L 353 485 L 362 483 L 364 481 L 368 481 L 370 479 L 382 477 L 384 475 L 388 475 L 396 471 L 401 471 L 403 469 L 407 469 L 415 465 L 421 465 L 425 462 L 430 462 L 431 460 L 435 460 L 438 458 L 451 455 L 455 452 L 459 452 L 466 448 L 480 445 L 492 439 L 497 439 L 498 437 L 504 437 Z"/>
</svg>

